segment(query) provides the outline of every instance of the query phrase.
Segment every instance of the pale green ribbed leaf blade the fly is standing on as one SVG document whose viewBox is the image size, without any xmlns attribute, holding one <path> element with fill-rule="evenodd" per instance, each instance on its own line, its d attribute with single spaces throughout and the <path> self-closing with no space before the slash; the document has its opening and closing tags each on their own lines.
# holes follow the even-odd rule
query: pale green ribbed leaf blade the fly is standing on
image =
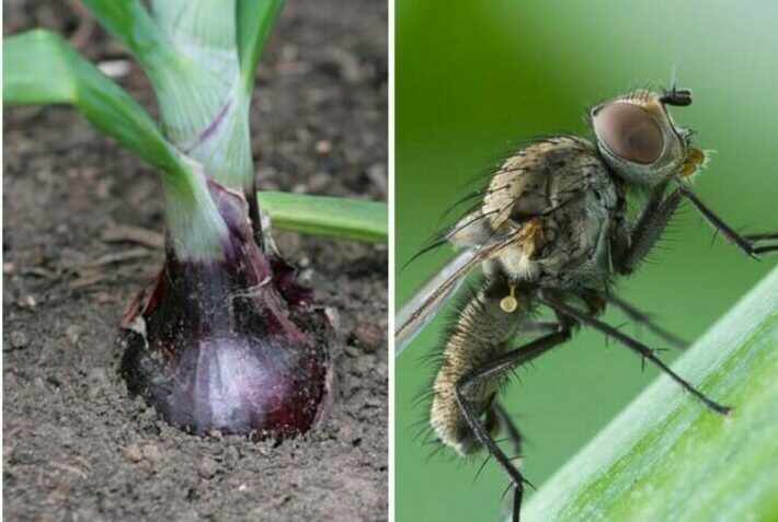
<svg viewBox="0 0 778 522">
<path fill-rule="evenodd" d="M 531 498 L 524 522 L 776 520 L 778 268 Z"/>
</svg>

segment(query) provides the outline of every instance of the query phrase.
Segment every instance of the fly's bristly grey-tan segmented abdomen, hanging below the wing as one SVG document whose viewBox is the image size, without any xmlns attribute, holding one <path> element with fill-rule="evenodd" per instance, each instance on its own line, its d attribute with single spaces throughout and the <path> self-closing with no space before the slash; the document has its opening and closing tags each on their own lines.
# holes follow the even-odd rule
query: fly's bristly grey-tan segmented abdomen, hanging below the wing
<svg viewBox="0 0 778 522">
<path fill-rule="evenodd" d="M 446 340 L 443 363 L 435 376 L 430 422 L 438 439 L 462 455 L 470 454 L 479 445 L 458 404 L 457 385 L 510 348 L 510 340 L 530 306 L 529 295 L 520 292 L 518 306 L 505 312 L 500 303 L 508 292 L 507 283 L 500 279 L 465 301 Z M 479 415 L 491 407 L 500 384 L 501 380 L 494 379 L 466 391 L 468 402 Z"/>
</svg>

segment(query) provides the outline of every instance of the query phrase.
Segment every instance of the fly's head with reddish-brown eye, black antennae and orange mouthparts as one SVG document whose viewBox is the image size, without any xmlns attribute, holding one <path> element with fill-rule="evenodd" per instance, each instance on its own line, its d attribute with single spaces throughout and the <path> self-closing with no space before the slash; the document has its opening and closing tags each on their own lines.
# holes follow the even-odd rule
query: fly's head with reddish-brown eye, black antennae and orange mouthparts
<svg viewBox="0 0 778 522">
<path fill-rule="evenodd" d="M 690 147 L 691 135 L 673 121 L 668 105 L 691 105 L 691 93 L 675 86 L 664 93 L 633 91 L 590 112 L 600 154 L 628 183 L 655 186 L 688 176 L 705 162 Z"/>
</svg>

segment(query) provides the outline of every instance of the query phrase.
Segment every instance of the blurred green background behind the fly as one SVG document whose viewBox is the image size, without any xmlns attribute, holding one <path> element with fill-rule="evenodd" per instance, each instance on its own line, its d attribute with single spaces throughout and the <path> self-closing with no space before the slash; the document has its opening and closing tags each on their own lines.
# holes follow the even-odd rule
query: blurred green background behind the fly
<svg viewBox="0 0 778 522">
<path fill-rule="evenodd" d="M 694 90 L 676 120 L 718 151 L 698 194 L 736 228 L 778 229 L 778 3 L 398 0 L 396 15 L 398 304 L 451 256 L 444 247 L 399 270 L 490 159 L 534 135 L 588 136 L 586 107 L 637 82 L 668 84 L 674 70 Z M 688 339 L 776 264 L 713 242 L 688 207 L 662 246 L 619 290 Z M 493 521 L 507 484 L 496 465 L 473 482 L 483 455 L 430 457 L 435 446 L 413 440 L 427 414 L 413 399 L 434 372 L 420 359 L 441 347 L 441 327 L 397 361 L 397 520 Z M 656 375 L 585 330 L 518 373 L 506 402 L 527 438 L 523 469 L 538 486 Z"/>
</svg>

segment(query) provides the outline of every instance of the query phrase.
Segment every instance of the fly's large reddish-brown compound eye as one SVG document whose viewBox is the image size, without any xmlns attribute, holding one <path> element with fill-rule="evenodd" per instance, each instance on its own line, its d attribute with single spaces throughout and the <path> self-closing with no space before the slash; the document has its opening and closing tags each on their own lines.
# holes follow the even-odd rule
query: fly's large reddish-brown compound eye
<svg viewBox="0 0 778 522">
<path fill-rule="evenodd" d="M 649 165 L 664 150 L 662 129 L 649 113 L 631 103 L 606 105 L 594 115 L 594 131 L 622 160 Z"/>
</svg>

